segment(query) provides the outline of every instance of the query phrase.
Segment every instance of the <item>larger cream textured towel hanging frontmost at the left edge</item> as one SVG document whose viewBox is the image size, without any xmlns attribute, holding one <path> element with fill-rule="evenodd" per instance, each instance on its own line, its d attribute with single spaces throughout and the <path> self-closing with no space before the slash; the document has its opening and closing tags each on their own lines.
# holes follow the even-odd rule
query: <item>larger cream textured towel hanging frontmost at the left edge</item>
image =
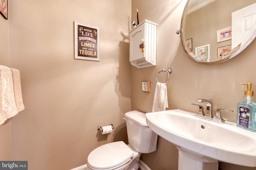
<svg viewBox="0 0 256 170">
<path fill-rule="evenodd" d="M 12 71 L 9 67 L 0 65 L 0 124 L 17 113 Z"/>
</svg>

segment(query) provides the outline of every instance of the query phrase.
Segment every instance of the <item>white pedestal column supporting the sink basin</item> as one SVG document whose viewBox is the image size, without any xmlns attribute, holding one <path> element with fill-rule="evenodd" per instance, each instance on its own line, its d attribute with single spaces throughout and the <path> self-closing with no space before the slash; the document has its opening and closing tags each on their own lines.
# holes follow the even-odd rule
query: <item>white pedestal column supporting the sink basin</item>
<svg viewBox="0 0 256 170">
<path fill-rule="evenodd" d="M 177 148 L 179 150 L 178 170 L 218 170 L 218 160 Z"/>
</svg>

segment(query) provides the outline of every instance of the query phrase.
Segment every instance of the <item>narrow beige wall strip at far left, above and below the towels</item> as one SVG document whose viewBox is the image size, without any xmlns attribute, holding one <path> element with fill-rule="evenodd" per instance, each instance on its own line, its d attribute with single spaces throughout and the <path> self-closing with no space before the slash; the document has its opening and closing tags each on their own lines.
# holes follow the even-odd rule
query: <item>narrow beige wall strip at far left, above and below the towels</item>
<svg viewBox="0 0 256 170">
<path fill-rule="evenodd" d="M 8 54 L 8 20 L 0 15 L 0 65 L 9 66 Z M 10 160 L 11 158 L 11 138 L 10 120 L 0 125 L 0 160 Z"/>
</svg>

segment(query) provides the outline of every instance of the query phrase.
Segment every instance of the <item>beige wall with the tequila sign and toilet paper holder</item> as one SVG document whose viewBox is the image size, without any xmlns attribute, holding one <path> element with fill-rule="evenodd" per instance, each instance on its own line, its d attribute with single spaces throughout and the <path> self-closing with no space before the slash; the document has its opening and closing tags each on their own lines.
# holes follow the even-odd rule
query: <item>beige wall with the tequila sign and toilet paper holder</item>
<svg viewBox="0 0 256 170">
<path fill-rule="evenodd" d="M 131 110 L 131 0 L 9 1 L 10 66 L 25 110 L 12 120 L 12 160 L 68 170 L 112 141 L 127 141 Z M 100 27 L 100 62 L 74 60 L 74 21 Z M 114 125 L 102 135 L 98 125 Z M 2 154 L 2 152 L 1 152 Z"/>
</svg>

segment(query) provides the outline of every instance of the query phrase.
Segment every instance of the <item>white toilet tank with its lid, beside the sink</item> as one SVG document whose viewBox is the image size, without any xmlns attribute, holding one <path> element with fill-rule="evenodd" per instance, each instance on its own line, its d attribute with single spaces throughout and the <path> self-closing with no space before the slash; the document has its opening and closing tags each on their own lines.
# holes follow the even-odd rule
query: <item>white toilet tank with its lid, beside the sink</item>
<svg viewBox="0 0 256 170">
<path fill-rule="evenodd" d="M 157 137 L 146 123 L 146 115 L 140 111 L 125 113 L 129 144 L 140 153 L 150 153 L 156 150 Z"/>
</svg>

